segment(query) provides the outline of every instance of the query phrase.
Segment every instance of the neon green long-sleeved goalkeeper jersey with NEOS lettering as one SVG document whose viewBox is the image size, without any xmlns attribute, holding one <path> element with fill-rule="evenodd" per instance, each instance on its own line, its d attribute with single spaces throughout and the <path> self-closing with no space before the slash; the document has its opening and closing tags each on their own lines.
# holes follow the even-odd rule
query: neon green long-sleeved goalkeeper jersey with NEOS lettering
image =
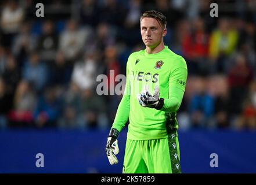
<svg viewBox="0 0 256 185">
<path fill-rule="evenodd" d="M 185 60 L 167 46 L 155 54 L 148 54 L 146 49 L 132 53 L 127 61 L 124 95 L 112 128 L 121 131 L 129 119 L 127 138 L 167 138 L 168 128 L 178 129 L 176 111 L 182 102 L 187 76 Z M 146 85 L 152 95 L 154 87 L 159 87 L 160 98 L 164 98 L 161 110 L 140 106 L 138 95 Z"/>
</svg>

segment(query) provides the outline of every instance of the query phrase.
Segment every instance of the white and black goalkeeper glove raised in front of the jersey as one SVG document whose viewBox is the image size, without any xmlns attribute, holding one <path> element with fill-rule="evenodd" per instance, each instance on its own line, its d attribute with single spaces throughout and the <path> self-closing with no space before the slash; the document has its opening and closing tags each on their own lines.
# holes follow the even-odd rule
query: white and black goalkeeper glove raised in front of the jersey
<svg viewBox="0 0 256 185">
<path fill-rule="evenodd" d="M 159 99 L 159 87 L 154 87 L 154 95 L 149 92 L 149 87 L 146 85 L 145 89 L 138 95 L 139 104 L 146 108 L 155 108 L 160 110 L 164 106 L 164 98 Z"/>
</svg>

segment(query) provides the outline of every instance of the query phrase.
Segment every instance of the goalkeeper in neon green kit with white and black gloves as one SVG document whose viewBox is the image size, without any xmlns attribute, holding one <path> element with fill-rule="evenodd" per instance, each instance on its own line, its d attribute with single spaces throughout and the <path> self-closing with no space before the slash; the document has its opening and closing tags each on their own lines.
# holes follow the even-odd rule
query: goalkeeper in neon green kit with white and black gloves
<svg viewBox="0 0 256 185">
<path fill-rule="evenodd" d="M 127 61 L 127 82 L 107 138 L 110 164 L 117 164 L 118 135 L 129 119 L 123 173 L 181 173 L 178 122 L 188 69 L 164 45 L 166 17 L 150 10 L 140 17 L 145 50 Z"/>
</svg>

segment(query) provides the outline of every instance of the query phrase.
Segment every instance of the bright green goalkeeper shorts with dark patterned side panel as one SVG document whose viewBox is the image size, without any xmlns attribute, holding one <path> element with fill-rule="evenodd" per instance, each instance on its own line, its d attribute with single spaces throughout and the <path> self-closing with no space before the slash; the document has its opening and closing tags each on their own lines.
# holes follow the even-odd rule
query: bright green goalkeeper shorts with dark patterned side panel
<svg viewBox="0 0 256 185">
<path fill-rule="evenodd" d="M 181 173 L 177 132 L 168 138 L 127 139 L 122 173 Z"/>
</svg>

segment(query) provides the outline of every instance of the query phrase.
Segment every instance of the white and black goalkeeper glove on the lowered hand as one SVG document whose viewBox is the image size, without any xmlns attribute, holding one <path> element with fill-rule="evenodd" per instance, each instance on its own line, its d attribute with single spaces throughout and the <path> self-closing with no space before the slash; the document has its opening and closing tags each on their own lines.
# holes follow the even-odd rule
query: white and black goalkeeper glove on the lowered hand
<svg viewBox="0 0 256 185">
<path fill-rule="evenodd" d="M 116 154 L 119 153 L 119 148 L 117 144 L 117 137 L 119 133 L 120 132 L 116 128 L 111 128 L 109 132 L 109 137 L 107 138 L 106 153 L 111 165 L 118 163 Z"/>
</svg>

